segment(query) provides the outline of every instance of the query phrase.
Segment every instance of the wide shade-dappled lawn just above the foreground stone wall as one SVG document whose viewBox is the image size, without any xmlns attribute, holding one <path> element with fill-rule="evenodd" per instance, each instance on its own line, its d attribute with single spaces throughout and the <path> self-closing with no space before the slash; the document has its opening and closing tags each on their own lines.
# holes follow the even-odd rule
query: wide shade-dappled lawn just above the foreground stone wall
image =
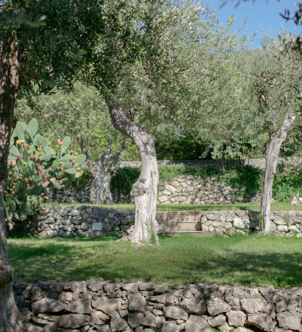
<svg viewBox="0 0 302 332">
<path fill-rule="evenodd" d="M 9 238 L 16 280 L 136 280 L 302 286 L 302 241 L 274 235 L 166 237 L 134 247 L 112 237 Z"/>
</svg>

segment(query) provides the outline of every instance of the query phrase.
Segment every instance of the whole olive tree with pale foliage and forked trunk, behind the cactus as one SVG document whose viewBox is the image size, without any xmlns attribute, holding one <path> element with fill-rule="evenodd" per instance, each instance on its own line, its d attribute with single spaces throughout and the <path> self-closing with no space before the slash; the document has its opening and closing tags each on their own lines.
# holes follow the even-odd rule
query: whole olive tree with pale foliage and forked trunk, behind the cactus
<svg viewBox="0 0 302 332">
<path fill-rule="evenodd" d="M 18 119 L 38 118 L 43 134 L 51 140 L 58 136 L 74 136 L 78 141 L 75 148 L 80 146 L 86 155 L 94 177 L 90 201 L 95 204 L 113 203 L 110 181 L 127 142 L 112 127 L 107 106 L 95 88 L 77 84 L 68 94 L 55 91 L 51 95 L 22 99 L 15 114 Z"/>
</svg>

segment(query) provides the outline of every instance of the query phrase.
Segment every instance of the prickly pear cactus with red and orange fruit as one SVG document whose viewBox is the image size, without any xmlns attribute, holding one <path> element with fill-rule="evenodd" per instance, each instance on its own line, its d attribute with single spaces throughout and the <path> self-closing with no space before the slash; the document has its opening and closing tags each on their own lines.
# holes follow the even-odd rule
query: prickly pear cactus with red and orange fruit
<svg viewBox="0 0 302 332">
<path fill-rule="evenodd" d="M 85 154 L 68 150 L 71 139 L 65 137 L 51 146 L 38 134 L 38 121 L 17 122 L 12 132 L 8 158 L 8 186 L 4 193 L 7 220 L 25 220 L 28 215 L 44 215 L 41 205 L 48 200 L 47 188 L 64 189 L 67 179 L 82 175 L 79 165 Z"/>
</svg>

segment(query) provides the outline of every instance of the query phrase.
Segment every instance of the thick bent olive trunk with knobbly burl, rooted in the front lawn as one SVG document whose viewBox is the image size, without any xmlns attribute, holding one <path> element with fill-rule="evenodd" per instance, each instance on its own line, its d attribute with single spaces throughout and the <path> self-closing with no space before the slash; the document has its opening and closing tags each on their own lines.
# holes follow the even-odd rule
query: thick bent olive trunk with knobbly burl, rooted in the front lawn
<svg viewBox="0 0 302 332">
<path fill-rule="evenodd" d="M 135 204 L 134 227 L 122 240 L 130 240 L 135 244 L 158 243 L 156 202 L 159 169 L 154 138 L 145 128 L 134 123 L 130 114 L 126 115 L 120 108 L 109 106 L 109 113 L 113 126 L 133 140 L 141 159 L 141 172 L 130 193 Z"/>
</svg>

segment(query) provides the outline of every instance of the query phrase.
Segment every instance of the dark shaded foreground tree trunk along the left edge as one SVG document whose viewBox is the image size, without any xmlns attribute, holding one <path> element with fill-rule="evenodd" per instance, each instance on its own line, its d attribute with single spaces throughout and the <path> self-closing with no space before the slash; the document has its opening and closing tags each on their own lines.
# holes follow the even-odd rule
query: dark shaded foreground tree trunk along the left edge
<svg viewBox="0 0 302 332">
<path fill-rule="evenodd" d="M 0 43 L 0 330 L 26 331 L 13 293 L 13 268 L 8 252 L 4 190 L 8 179 L 8 155 L 14 107 L 19 88 L 19 58 L 16 32 L 3 36 Z"/>
</svg>

